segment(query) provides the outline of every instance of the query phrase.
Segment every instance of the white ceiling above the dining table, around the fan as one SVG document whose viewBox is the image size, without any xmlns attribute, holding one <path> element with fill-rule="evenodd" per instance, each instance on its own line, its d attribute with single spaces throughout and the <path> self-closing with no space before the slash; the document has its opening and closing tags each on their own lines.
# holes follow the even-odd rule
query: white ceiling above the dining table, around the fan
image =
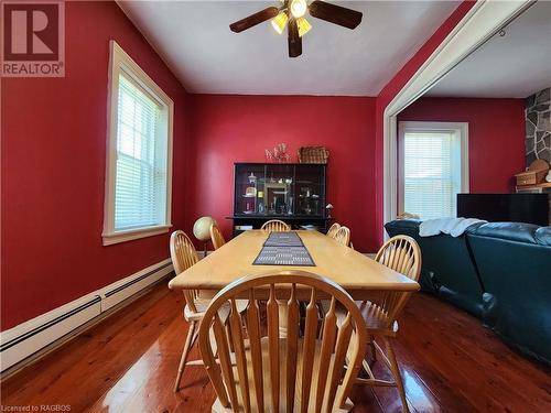
<svg viewBox="0 0 551 413">
<path fill-rule="evenodd" d="M 361 11 L 361 24 L 309 18 L 298 58 L 269 22 L 228 28 L 277 0 L 118 3 L 191 93 L 376 96 L 460 1 L 338 1 Z"/>
</svg>

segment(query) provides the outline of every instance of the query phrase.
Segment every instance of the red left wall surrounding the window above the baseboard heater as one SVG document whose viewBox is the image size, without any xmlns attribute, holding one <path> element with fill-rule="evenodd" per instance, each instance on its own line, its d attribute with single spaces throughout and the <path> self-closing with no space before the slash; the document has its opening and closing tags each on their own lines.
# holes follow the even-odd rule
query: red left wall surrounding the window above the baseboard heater
<svg viewBox="0 0 551 413">
<path fill-rule="evenodd" d="M 65 8 L 66 76 L 2 78 L 2 329 L 170 256 L 168 235 L 101 246 L 111 39 L 174 100 L 172 219 L 184 221 L 185 90 L 115 2 Z"/>
</svg>

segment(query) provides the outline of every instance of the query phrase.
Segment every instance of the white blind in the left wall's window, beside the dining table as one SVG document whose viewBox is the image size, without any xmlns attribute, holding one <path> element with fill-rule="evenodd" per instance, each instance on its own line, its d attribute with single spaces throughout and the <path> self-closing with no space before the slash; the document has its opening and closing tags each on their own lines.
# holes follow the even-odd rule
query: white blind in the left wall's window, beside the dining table
<svg viewBox="0 0 551 413">
<path fill-rule="evenodd" d="M 161 108 L 123 73 L 119 74 L 115 229 L 165 222 L 166 133 Z"/>
</svg>

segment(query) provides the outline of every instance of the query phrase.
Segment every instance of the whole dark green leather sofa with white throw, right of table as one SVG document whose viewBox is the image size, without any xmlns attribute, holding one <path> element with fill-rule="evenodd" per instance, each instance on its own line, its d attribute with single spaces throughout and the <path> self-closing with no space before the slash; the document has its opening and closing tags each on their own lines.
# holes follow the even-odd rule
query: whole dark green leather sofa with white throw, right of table
<svg viewBox="0 0 551 413">
<path fill-rule="evenodd" d="M 551 366 L 551 227 L 471 226 L 457 238 L 419 237 L 420 221 L 397 220 L 390 236 L 421 247 L 422 290 L 480 318 L 506 343 Z"/>
</svg>

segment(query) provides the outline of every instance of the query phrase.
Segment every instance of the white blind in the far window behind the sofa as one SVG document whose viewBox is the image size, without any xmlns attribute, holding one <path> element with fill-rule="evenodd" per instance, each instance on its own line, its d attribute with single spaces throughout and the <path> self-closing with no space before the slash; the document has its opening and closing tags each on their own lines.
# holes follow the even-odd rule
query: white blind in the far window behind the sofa
<svg viewBox="0 0 551 413">
<path fill-rule="evenodd" d="M 454 217 L 461 192 L 461 137 L 456 131 L 403 134 L 403 209 L 422 219 Z"/>
</svg>

